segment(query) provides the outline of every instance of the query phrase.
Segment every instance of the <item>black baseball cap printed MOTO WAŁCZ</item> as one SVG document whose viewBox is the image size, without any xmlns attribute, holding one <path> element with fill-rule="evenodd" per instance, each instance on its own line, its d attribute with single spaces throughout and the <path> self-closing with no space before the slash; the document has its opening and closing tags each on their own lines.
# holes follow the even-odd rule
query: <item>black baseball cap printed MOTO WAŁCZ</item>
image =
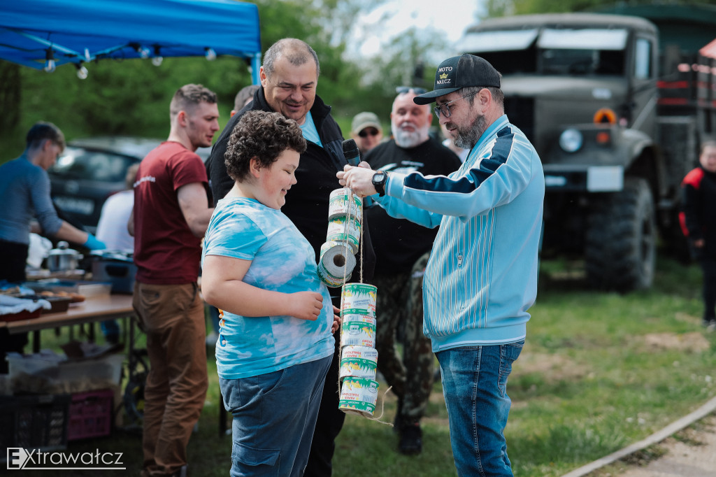
<svg viewBox="0 0 716 477">
<path fill-rule="evenodd" d="M 486 59 L 474 54 L 448 58 L 437 67 L 434 89 L 412 100 L 416 105 L 427 105 L 438 96 L 468 86 L 500 87 L 500 73 Z"/>
</svg>

